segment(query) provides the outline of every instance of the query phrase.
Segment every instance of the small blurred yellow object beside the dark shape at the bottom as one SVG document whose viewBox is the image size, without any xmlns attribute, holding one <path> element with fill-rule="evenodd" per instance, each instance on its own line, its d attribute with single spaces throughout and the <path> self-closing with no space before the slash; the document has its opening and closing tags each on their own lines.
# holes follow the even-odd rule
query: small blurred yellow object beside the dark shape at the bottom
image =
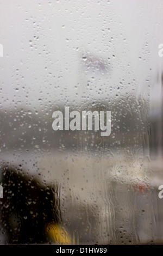
<svg viewBox="0 0 163 256">
<path fill-rule="evenodd" d="M 61 225 L 48 223 L 46 224 L 46 232 L 51 240 L 59 245 L 74 245 L 74 237 L 71 238 Z"/>
</svg>

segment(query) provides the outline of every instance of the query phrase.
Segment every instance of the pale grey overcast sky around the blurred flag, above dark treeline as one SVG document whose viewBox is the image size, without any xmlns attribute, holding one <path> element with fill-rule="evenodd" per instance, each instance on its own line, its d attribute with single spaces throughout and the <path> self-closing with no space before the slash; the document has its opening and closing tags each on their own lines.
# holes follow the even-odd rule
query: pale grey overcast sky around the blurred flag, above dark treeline
<svg viewBox="0 0 163 256">
<path fill-rule="evenodd" d="M 148 85 L 154 87 L 163 59 L 161 0 L 0 3 L 3 107 L 114 99 L 118 87 L 117 99 L 127 92 L 147 96 Z M 85 52 L 108 60 L 109 71 L 87 71 Z"/>
</svg>

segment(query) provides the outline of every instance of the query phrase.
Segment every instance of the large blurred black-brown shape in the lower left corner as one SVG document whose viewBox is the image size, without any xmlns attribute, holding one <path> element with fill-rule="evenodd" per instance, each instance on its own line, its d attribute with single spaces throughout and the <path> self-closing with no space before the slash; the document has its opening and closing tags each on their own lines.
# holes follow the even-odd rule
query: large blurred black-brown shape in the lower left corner
<svg viewBox="0 0 163 256">
<path fill-rule="evenodd" d="M 60 224 L 58 184 L 43 186 L 21 169 L 3 166 L 1 225 L 7 243 L 45 243 L 46 225 Z"/>
</svg>

